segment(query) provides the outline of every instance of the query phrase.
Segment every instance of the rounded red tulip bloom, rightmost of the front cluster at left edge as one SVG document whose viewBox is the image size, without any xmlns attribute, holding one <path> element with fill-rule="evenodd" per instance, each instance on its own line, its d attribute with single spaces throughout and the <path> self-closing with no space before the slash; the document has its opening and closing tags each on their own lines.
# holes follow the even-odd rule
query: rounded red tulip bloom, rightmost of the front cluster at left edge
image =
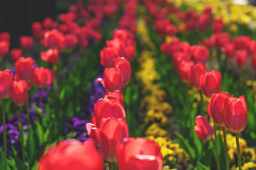
<svg viewBox="0 0 256 170">
<path fill-rule="evenodd" d="M 54 81 L 54 73 L 51 69 L 38 67 L 35 69 L 34 81 L 37 87 L 49 87 Z"/>
</svg>

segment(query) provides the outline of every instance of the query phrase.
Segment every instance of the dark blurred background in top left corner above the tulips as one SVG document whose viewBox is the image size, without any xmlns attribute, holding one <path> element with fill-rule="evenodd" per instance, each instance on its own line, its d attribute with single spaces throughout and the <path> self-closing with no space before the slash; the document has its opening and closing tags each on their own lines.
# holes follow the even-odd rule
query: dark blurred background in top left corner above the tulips
<svg viewBox="0 0 256 170">
<path fill-rule="evenodd" d="M 57 14 L 56 0 L 0 0 L 0 32 L 11 34 L 12 47 L 20 36 L 31 36 L 31 24 Z"/>
</svg>

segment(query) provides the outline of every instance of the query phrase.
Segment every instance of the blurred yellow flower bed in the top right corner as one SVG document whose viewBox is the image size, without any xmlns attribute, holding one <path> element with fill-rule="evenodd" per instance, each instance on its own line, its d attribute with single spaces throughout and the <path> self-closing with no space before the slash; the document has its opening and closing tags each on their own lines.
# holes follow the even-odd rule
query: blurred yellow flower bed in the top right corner
<svg viewBox="0 0 256 170">
<path fill-rule="evenodd" d="M 235 4 L 231 0 L 168 0 L 176 7 L 186 6 L 202 13 L 205 7 L 211 6 L 214 17 L 223 18 L 230 31 L 236 32 L 236 23 L 255 28 L 256 7 L 250 4 Z"/>
</svg>

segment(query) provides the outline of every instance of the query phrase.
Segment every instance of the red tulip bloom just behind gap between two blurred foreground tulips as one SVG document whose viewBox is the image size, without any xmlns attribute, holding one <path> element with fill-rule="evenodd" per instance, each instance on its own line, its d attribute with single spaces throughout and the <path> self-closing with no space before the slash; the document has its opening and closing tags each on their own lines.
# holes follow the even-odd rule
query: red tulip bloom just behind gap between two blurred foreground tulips
<svg viewBox="0 0 256 170">
<path fill-rule="evenodd" d="M 108 118 L 100 128 L 100 151 L 108 162 L 116 162 L 116 146 L 129 137 L 127 123 L 122 119 Z"/>
</svg>

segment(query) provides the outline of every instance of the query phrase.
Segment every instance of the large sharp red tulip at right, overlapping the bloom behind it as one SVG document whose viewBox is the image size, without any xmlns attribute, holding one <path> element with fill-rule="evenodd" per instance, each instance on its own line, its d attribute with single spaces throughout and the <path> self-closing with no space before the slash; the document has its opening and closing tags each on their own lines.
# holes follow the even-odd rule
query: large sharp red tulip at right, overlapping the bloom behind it
<svg viewBox="0 0 256 170">
<path fill-rule="evenodd" d="M 247 124 L 247 105 L 244 96 L 227 97 L 223 103 L 223 119 L 228 131 L 242 132 Z"/>
</svg>

